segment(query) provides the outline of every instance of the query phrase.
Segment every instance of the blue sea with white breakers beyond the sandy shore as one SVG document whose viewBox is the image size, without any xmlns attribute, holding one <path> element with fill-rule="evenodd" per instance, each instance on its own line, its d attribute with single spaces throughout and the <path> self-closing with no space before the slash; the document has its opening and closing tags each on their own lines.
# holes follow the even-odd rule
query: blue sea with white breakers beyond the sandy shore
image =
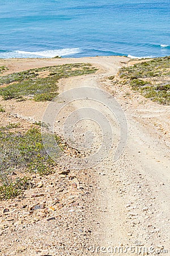
<svg viewBox="0 0 170 256">
<path fill-rule="evenodd" d="M 0 58 L 170 55 L 169 0 L 0 1 Z"/>
</svg>

